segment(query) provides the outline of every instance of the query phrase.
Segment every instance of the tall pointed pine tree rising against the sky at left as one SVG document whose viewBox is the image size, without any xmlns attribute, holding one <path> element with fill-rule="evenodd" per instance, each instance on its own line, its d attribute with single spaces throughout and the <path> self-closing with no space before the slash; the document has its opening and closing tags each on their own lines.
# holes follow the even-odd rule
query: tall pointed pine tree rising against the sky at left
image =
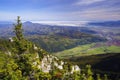
<svg viewBox="0 0 120 80">
<path fill-rule="evenodd" d="M 17 23 L 15 24 L 14 32 L 16 34 L 16 37 L 14 37 L 14 42 L 17 48 L 17 51 L 15 53 L 22 54 L 25 51 L 29 53 L 30 50 L 33 49 L 33 44 L 23 37 L 23 29 L 20 16 L 17 17 Z"/>
</svg>

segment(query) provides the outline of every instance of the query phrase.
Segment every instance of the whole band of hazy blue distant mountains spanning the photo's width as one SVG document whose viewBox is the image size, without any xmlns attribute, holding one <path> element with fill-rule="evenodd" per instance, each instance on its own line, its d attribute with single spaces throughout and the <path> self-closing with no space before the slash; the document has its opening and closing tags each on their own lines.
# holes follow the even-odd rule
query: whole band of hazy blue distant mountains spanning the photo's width
<svg viewBox="0 0 120 80">
<path fill-rule="evenodd" d="M 0 21 L 0 36 L 12 36 L 13 33 L 13 23 Z M 98 27 L 95 27 L 98 26 Z M 101 28 L 102 27 L 102 28 Z M 91 35 L 99 35 L 101 37 L 106 37 L 112 39 L 115 35 L 119 36 L 120 21 L 106 21 L 106 22 L 90 22 L 86 26 L 58 26 L 58 25 L 47 25 L 40 23 L 32 23 L 26 21 L 23 23 L 24 34 L 26 36 L 30 35 L 48 35 L 48 34 L 63 34 L 65 32 L 82 32 Z"/>
</svg>

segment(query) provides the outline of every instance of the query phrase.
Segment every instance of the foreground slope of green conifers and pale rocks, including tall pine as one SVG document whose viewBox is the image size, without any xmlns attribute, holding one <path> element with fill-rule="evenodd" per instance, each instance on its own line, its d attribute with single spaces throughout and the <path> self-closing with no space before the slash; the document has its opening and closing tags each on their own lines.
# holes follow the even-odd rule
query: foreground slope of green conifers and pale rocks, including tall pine
<svg viewBox="0 0 120 80">
<path fill-rule="evenodd" d="M 81 70 L 60 60 L 26 40 L 20 17 L 14 27 L 15 37 L 0 39 L 0 79 L 2 80 L 94 80 L 91 66 Z M 97 80 L 101 79 L 97 75 Z M 105 75 L 102 79 L 106 80 Z"/>
</svg>

